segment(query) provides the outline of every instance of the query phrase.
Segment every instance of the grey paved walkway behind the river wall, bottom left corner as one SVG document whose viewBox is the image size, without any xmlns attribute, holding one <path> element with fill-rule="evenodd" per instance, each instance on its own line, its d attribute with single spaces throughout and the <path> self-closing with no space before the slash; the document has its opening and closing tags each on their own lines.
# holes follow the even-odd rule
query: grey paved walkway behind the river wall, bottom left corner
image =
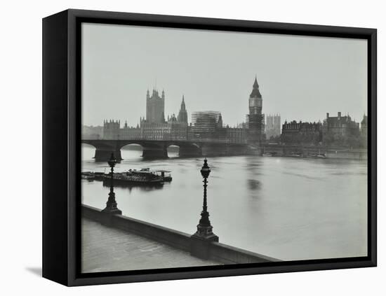
<svg viewBox="0 0 386 296">
<path fill-rule="evenodd" d="M 82 272 L 221 265 L 86 218 L 81 231 Z"/>
</svg>

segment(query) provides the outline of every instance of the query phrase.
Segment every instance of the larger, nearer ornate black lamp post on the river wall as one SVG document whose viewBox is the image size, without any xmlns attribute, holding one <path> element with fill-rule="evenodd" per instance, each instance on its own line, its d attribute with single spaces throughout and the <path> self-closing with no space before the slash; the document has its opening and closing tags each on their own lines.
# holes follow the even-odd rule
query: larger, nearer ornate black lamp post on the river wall
<svg viewBox="0 0 386 296">
<path fill-rule="evenodd" d="M 211 173 L 211 169 L 208 166 L 208 160 L 204 160 L 204 166 L 201 168 L 201 175 L 204 178 L 204 203 L 201 211 L 201 219 L 199 225 L 197 225 L 197 232 L 192 235 L 192 238 L 201 239 L 205 241 L 218 241 L 218 236 L 213 233 L 213 227 L 209 220 L 208 206 L 206 202 L 206 188 L 208 187 L 208 176 Z"/>
</svg>

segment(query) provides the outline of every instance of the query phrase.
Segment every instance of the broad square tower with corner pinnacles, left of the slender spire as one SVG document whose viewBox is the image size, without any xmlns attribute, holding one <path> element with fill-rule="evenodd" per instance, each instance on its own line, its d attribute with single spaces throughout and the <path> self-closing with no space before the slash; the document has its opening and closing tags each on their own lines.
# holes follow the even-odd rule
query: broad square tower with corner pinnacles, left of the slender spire
<svg viewBox="0 0 386 296">
<path fill-rule="evenodd" d="M 159 97 L 158 90 L 155 88 L 150 97 L 149 90 L 146 94 L 146 122 L 147 123 L 165 123 L 165 92 L 162 90 Z"/>
</svg>

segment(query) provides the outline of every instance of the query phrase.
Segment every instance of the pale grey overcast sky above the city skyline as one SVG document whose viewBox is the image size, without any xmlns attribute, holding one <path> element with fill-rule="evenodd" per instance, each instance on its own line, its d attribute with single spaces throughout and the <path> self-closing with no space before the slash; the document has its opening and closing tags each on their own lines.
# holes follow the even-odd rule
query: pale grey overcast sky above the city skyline
<svg viewBox="0 0 386 296">
<path fill-rule="evenodd" d="M 165 90 L 165 115 L 220 111 L 245 120 L 255 75 L 262 112 L 318 121 L 326 112 L 367 113 L 367 43 L 348 38 L 83 24 L 84 125 L 137 125 L 146 91 Z"/>
</svg>

